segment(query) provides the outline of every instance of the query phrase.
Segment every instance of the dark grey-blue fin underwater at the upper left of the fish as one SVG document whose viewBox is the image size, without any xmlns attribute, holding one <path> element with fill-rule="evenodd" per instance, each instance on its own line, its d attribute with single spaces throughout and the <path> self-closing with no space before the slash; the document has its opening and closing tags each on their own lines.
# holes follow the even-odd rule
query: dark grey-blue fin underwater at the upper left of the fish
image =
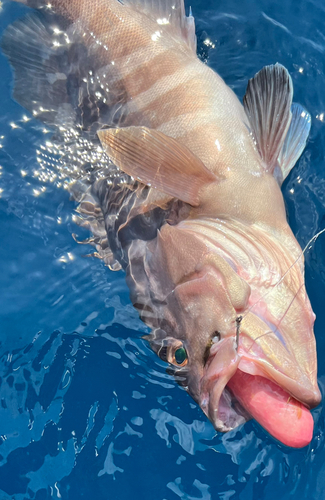
<svg viewBox="0 0 325 500">
<path fill-rule="evenodd" d="M 111 87 L 103 99 L 98 73 L 114 68 L 98 67 L 75 26 L 32 13 L 7 28 L 1 48 L 14 69 L 14 98 L 41 121 L 94 128 L 93 137 L 96 124 L 121 123 L 124 89 Z"/>
</svg>

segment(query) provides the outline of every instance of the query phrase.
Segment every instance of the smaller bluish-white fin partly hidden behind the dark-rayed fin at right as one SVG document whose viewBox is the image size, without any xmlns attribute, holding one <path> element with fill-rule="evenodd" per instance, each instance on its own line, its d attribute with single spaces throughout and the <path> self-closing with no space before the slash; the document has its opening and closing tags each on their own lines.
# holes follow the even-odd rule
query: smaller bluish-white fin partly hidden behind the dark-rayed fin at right
<svg viewBox="0 0 325 500">
<path fill-rule="evenodd" d="M 293 103 L 291 113 L 292 120 L 278 159 L 282 181 L 289 175 L 305 149 L 311 127 L 311 116 L 303 106 Z"/>
</svg>

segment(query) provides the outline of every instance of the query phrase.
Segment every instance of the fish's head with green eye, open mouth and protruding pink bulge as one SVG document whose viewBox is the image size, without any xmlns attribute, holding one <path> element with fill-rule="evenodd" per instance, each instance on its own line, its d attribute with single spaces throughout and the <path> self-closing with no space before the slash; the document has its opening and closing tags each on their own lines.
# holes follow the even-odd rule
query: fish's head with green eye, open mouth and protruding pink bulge
<svg viewBox="0 0 325 500">
<path fill-rule="evenodd" d="M 197 235 L 178 234 L 173 243 L 171 233 L 174 237 L 174 229 L 165 231 L 160 248 L 152 253 L 157 265 L 153 276 L 163 268 L 160 285 L 164 288 L 164 280 L 165 288 L 167 282 L 173 283 L 161 302 L 159 328 L 149 338 L 153 350 L 170 364 L 176 380 L 217 430 L 229 431 L 254 417 L 285 444 L 306 444 L 311 439 L 311 417 L 306 417 L 307 438 L 296 444 L 295 439 L 283 437 L 284 422 L 295 417 L 300 427 L 305 425 L 305 410 L 310 415 L 308 409 L 320 401 L 315 316 L 301 265 L 280 282 L 266 284 L 265 279 L 245 276 L 239 264 L 207 251 L 207 242 Z M 175 259 L 176 248 L 185 241 L 191 252 Z M 282 260 L 287 266 L 288 259 Z M 149 276 L 150 266 L 153 271 L 148 259 Z"/>
</svg>

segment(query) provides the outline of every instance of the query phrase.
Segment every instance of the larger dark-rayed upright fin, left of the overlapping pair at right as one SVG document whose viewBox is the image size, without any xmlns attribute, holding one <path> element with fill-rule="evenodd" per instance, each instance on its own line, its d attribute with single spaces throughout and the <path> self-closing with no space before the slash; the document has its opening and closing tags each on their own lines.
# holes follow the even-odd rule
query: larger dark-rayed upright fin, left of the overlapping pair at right
<svg viewBox="0 0 325 500">
<path fill-rule="evenodd" d="M 292 81 L 281 64 L 265 66 L 249 80 L 244 108 L 267 171 L 273 173 L 291 121 Z"/>
</svg>

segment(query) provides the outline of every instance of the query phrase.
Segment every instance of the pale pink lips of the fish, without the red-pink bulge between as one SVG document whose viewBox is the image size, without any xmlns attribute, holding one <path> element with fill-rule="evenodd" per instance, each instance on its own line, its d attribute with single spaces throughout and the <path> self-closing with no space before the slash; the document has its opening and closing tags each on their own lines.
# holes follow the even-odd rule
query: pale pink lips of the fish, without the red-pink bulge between
<svg viewBox="0 0 325 500">
<path fill-rule="evenodd" d="M 302 371 L 300 380 L 294 380 L 266 358 L 250 356 L 241 345 L 237 351 L 235 337 L 228 337 L 212 346 L 200 384 L 200 406 L 219 431 L 227 432 L 251 418 L 239 404 L 234 404 L 235 398 L 227 388 L 237 370 L 274 382 L 308 409 L 321 401 L 318 387 Z"/>
</svg>

